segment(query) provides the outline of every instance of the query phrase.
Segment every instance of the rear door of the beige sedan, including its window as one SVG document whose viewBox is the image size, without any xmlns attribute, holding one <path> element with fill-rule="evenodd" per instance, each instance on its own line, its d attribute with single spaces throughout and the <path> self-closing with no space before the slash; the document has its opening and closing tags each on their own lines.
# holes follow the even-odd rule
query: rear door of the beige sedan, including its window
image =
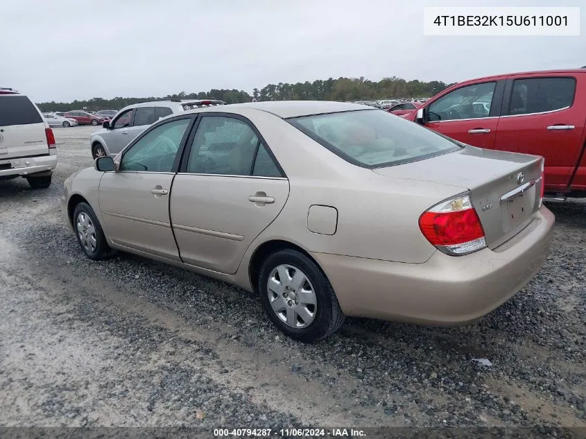
<svg viewBox="0 0 586 439">
<path fill-rule="evenodd" d="M 288 180 L 247 119 L 204 114 L 171 191 L 171 222 L 187 264 L 235 273 L 250 243 L 277 217 Z"/>
</svg>

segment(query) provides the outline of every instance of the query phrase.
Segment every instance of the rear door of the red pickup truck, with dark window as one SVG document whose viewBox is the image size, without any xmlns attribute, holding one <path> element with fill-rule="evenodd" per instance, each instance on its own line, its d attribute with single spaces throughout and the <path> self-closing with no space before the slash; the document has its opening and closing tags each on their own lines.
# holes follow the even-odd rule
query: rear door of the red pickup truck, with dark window
<svg viewBox="0 0 586 439">
<path fill-rule="evenodd" d="M 584 94 L 586 83 L 567 74 L 508 79 L 496 147 L 542 155 L 548 191 L 565 189 L 576 169 L 586 115 L 575 96 Z"/>
</svg>

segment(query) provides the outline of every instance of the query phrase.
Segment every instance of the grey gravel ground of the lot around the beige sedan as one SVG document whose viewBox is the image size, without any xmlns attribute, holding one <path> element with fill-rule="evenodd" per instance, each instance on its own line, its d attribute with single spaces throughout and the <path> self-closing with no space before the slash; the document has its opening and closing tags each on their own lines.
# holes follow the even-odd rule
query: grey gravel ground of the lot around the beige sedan
<svg viewBox="0 0 586 439">
<path fill-rule="evenodd" d="M 232 286 L 83 256 L 59 198 L 94 129 L 55 128 L 49 189 L 0 181 L 1 426 L 586 427 L 586 203 L 550 206 L 546 266 L 481 321 L 302 345 Z"/>
</svg>

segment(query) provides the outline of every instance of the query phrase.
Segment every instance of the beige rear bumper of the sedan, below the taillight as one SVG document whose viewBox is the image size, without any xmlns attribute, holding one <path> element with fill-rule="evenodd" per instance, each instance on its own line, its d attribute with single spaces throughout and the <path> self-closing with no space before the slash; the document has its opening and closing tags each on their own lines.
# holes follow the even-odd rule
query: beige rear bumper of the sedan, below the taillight
<svg viewBox="0 0 586 439">
<path fill-rule="evenodd" d="M 423 264 L 312 256 L 349 316 L 459 325 L 499 307 L 535 276 L 549 253 L 554 222 L 541 207 L 524 230 L 494 250 L 461 257 L 437 251 Z"/>
</svg>

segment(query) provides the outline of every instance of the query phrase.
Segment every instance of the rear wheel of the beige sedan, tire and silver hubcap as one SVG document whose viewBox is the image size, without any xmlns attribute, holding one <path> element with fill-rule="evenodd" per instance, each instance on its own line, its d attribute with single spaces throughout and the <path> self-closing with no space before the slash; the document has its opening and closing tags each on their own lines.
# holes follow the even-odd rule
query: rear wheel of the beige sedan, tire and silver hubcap
<svg viewBox="0 0 586 439">
<path fill-rule="evenodd" d="M 287 279 L 282 280 L 282 276 Z M 296 279 L 301 281 L 295 284 Z M 264 310 L 286 336 L 314 343 L 336 332 L 344 322 L 344 313 L 325 273 L 297 250 L 284 249 L 269 255 L 258 280 Z"/>
</svg>

